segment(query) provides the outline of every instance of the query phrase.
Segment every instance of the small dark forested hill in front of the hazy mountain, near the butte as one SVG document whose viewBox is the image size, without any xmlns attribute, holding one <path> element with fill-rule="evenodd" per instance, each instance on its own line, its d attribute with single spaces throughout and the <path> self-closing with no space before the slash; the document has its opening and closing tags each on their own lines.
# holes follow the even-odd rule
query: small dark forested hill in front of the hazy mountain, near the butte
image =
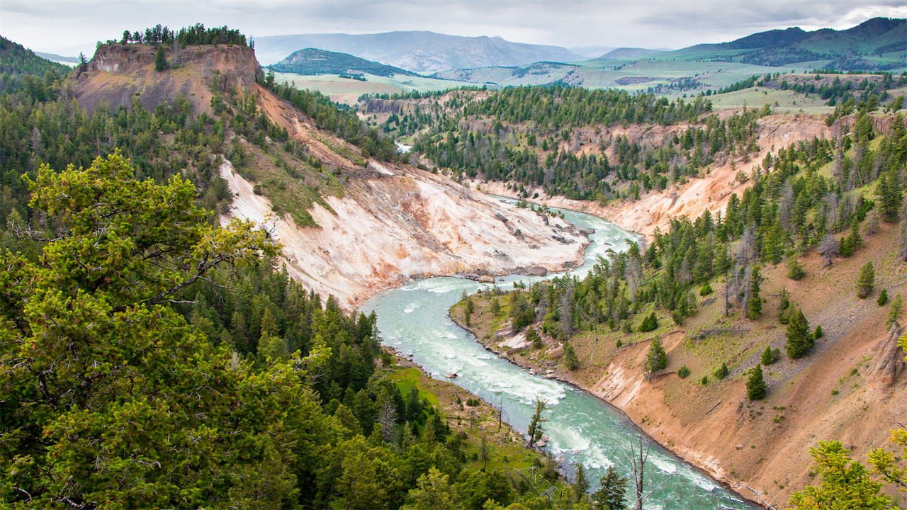
<svg viewBox="0 0 907 510">
<path fill-rule="evenodd" d="M 296 74 L 375 74 L 375 76 L 417 76 L 418 74 L 394 67 L 378 64 L 350 54 L 327 52 L 316 48 L 299 50 L 274 64 L 272 68 L 278 73 Z"/>
</svg>

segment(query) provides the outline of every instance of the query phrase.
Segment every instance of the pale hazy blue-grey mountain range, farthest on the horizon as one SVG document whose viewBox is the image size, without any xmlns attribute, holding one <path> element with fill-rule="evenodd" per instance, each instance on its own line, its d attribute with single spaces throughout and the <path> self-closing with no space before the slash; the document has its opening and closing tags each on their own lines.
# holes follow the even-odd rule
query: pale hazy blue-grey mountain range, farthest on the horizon
<svg viewBox="0 0 907 510">
<path fill-rule="evenodd" d="M 297 34 L 255 39 L 263 65 L 276 64 L 302 48 L 355 55 L 414 73 L 518 66 L 535 62 L 578 62 L 589 56 L 560 46 L 511 43 L 501 37 L 461 37 L 434 32 L 384 34 Z"/>
</svg>

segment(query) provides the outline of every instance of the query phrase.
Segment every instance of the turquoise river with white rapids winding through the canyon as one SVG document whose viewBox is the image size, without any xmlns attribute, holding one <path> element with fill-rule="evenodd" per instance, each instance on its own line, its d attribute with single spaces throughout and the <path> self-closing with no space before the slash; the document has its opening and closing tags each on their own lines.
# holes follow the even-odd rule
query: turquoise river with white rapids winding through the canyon
<svg viewBox="0 0 907 510">
<path fill-rule="evenodd" d="M 571 271 L 580 279 L 594 265 L 597 255 L 606 255 L 608 250 L 626 250 L 627 240 L 639 237 L 595 216 L 574 211 L 563 213 L 578 228 L 595 229 L 590 234 L 585 263 Z M 514 280 L 530 283 L 543 279 L 512 276 L 503 280 L 497 285 L 512 289 Z M 554 456 L 563 457 L 562 465 L 567 471 L 571 471 L 574 463 L 581 462 L 593 491 L 608 466 L 615 466 L 622 476 L 632 479 L 626 454 L 636 429 L 627 417 L 588 392 L 559 381 L 530 376 L 527 371 L 497 358 L 472 333 L 448 318 L 448 309 L 460 300 L 464 290 L 473 293 L 490 287 L 454 278 L 417 280 L 375 295 L 361 310 L 366 314 L 375 310 L 386 346 L 397 348 L 405 355 L 412 354 L 414 361 L 433 378 L 443 378 L 449 372 L 459 374 L 453 379 L 454 384 L 502 407 L 504 419 L 523 434 L 529 428 L 535 398 L 543 398 L 549 403 L 545 413 L 549 421 L 544 424 L 544 433 L 550 438 L 548 450 Z M 658 488 L 645 508 L 757 508 L 654 441 L 651 446 L 645 473 L 647 492 Z"/>
</svg>

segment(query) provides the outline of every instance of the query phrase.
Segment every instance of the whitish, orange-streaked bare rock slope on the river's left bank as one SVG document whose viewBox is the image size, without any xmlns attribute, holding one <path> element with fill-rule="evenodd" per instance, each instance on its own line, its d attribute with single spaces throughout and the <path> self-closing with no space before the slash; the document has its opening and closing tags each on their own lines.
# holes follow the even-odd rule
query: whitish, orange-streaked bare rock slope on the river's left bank
<svg viewBox="0 0 907 510">
<path fill-rule="evenodd" d="M 221 221 L 264 225 L 283 244 L 290 276 L 322 296 L 333 294 L 346 309 L 416 278 L 533 266 L 557 271 L 582 261 L 589 240 L 560 219 L 546 224 L 539 213 L 412 167 L 369 166 L 380 168 L 380 177 L 351 181 L 344 198 L 326 197 L 336 214 L 316 203 L 310 213 L 320 228 L 298 228 L 289 216 L 276 217 L 270 201 L 224 162 L 220 175 L 238 196 Z"/>
</svg>

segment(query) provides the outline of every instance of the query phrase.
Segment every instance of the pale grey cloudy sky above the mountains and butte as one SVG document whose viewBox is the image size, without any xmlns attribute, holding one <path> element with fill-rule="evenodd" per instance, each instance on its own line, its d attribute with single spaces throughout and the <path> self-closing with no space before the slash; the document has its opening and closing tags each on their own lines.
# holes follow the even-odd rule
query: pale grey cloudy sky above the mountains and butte
<svg viewBox="0 0 907 510">
<path fill-rule="evenodd" d="M 161 23 L 229 25 L 253 36 L 429 30 L 519 43 L 681 48 L 800 26 L 849 28 L 907 17 L 907 0 L 2 0 L 0 34 L 36 51 L 93 54 L 94 43 Z"/>
</svg>

